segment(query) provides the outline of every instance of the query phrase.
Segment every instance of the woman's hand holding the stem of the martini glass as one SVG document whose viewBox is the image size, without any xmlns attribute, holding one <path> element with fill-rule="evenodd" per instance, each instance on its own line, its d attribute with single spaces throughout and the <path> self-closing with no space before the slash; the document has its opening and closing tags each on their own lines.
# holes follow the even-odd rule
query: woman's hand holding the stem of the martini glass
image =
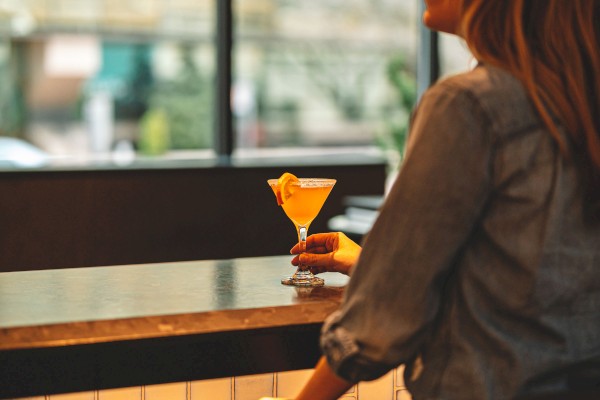
<svg viewBox="0 0 600 400">
<path fill-rule="evenodd" d="M 296 244 L 290 253 L 297 254 L 293 265 L 307 265 L 313 274 L 341 272 L 350 275 L 361 247 L 342 232 L 317 233 L 306 239 L 306 253 L 300 254 Z"/>
</svg>

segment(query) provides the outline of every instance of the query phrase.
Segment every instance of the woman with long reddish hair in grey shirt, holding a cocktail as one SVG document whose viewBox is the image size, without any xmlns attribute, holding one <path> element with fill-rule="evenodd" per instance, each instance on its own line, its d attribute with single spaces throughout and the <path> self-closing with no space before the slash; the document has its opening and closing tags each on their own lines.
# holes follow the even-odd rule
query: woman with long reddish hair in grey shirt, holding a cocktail
<svg viewBox="0 0 600 400">
<path fill-rule="evenodd" d="M 331 233 L 294 258 L 352 272 L 298 399 L 399 364 L 415 400 L 512 399 L 600 360 L 600 1 L 426 3 L 480 64 L 421 99 L 362 251 Z"/>
</svg>

